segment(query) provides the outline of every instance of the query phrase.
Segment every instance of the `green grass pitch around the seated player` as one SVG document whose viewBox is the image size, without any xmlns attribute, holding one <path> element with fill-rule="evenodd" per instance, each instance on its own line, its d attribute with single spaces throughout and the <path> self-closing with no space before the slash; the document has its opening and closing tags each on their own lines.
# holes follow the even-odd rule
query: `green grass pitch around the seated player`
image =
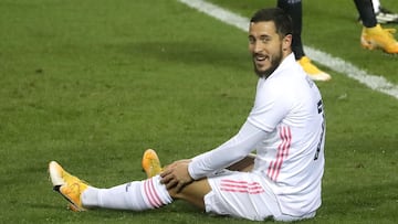
<svg viewBox="0 0 398 224">
<path fill-rule="evenodd" d="M 275 4 L 211 2 L 244 17 Z M 396 1 L 383 3 L 398 11 Z M 398 83 L 397 56 L 359 46 L 353 1 L 303 7 L 304 44 Z M 398 100 L 321 67 L 333 75 L 318 83 L 327 117 L 323 205 L 301 223 L 395 223 Z M 140 213 L 72 213 L 46 167 L 56 160 L 103 188 L 144 179 L 147 148 L 167 163 L 234 135 L 255 83 L 247 33 L 177 0 L 1 0 L 0 223 L 253 223 L 180 201 Z"/>
</svg>

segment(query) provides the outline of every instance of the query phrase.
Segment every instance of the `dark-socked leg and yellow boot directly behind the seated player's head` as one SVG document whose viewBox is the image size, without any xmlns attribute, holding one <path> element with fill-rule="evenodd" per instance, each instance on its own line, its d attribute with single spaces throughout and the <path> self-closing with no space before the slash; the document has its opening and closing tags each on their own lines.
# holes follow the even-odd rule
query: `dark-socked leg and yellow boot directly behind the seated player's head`
<svg viewBox="0 0 398 224">
<path fill-rule="evenodd" d="M 302 28 L 303 28 L 303 7 L 301 0 L 277 0 L 276 6 L 283 9 L 293 22 L 293 41 L 292 50 L 296 61 L 301 64 L 305 73 L 314 81 L 328 81 L 331 75 L 316 67 L 312 61 L 305 56 L 302 43 Z"/>
</svg>

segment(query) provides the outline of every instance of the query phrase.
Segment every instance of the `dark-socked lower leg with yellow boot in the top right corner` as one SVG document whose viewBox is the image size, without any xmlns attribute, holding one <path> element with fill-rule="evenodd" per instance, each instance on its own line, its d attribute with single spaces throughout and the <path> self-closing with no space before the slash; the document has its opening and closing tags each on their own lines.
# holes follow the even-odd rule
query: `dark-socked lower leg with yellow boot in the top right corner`
<svg viewBox="0 0 398 224">
<path fill-rule="evenodd" d="M 398 42 L 394 38 L 395 29 L 383 29 L 377 23 L 371 0 L 354 0 L 363 21 L 360 44 L 369 50 L 381 49 L 386 53 L 398 54 Z"/>
</svg>

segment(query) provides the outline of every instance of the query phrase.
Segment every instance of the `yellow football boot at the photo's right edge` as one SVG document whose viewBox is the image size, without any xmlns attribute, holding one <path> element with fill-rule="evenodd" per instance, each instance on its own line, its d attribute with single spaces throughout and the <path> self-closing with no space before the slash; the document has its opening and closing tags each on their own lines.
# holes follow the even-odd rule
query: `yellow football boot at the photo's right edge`
<svg viewBox="0 0 398 224">
<path fill-rule="evenodd" d="M 381 49 L 389 54 L 398 54 L 398 42 L 392 33 L 396 29 L 383 29 L 380 24 L 375 28 L 363 29 L 360 44 L 368 50 Z"/>
</svg>

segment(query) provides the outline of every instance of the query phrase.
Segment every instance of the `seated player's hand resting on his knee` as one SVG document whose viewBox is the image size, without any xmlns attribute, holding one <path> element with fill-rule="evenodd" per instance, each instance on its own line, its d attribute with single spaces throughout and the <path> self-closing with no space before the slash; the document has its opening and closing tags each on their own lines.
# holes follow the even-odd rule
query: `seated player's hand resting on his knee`
<svg viewBox="0 0 398 224">
<path fill-rule="evenodd" d="M 189 162 L 190 160 L 179 160 L 167 166 L 160 173 L 160 183 L 167 189 L 176 188 L 176 192 L 181 191 L 185 185 L 193 181 L 188 172 Z"/>
</svg>

